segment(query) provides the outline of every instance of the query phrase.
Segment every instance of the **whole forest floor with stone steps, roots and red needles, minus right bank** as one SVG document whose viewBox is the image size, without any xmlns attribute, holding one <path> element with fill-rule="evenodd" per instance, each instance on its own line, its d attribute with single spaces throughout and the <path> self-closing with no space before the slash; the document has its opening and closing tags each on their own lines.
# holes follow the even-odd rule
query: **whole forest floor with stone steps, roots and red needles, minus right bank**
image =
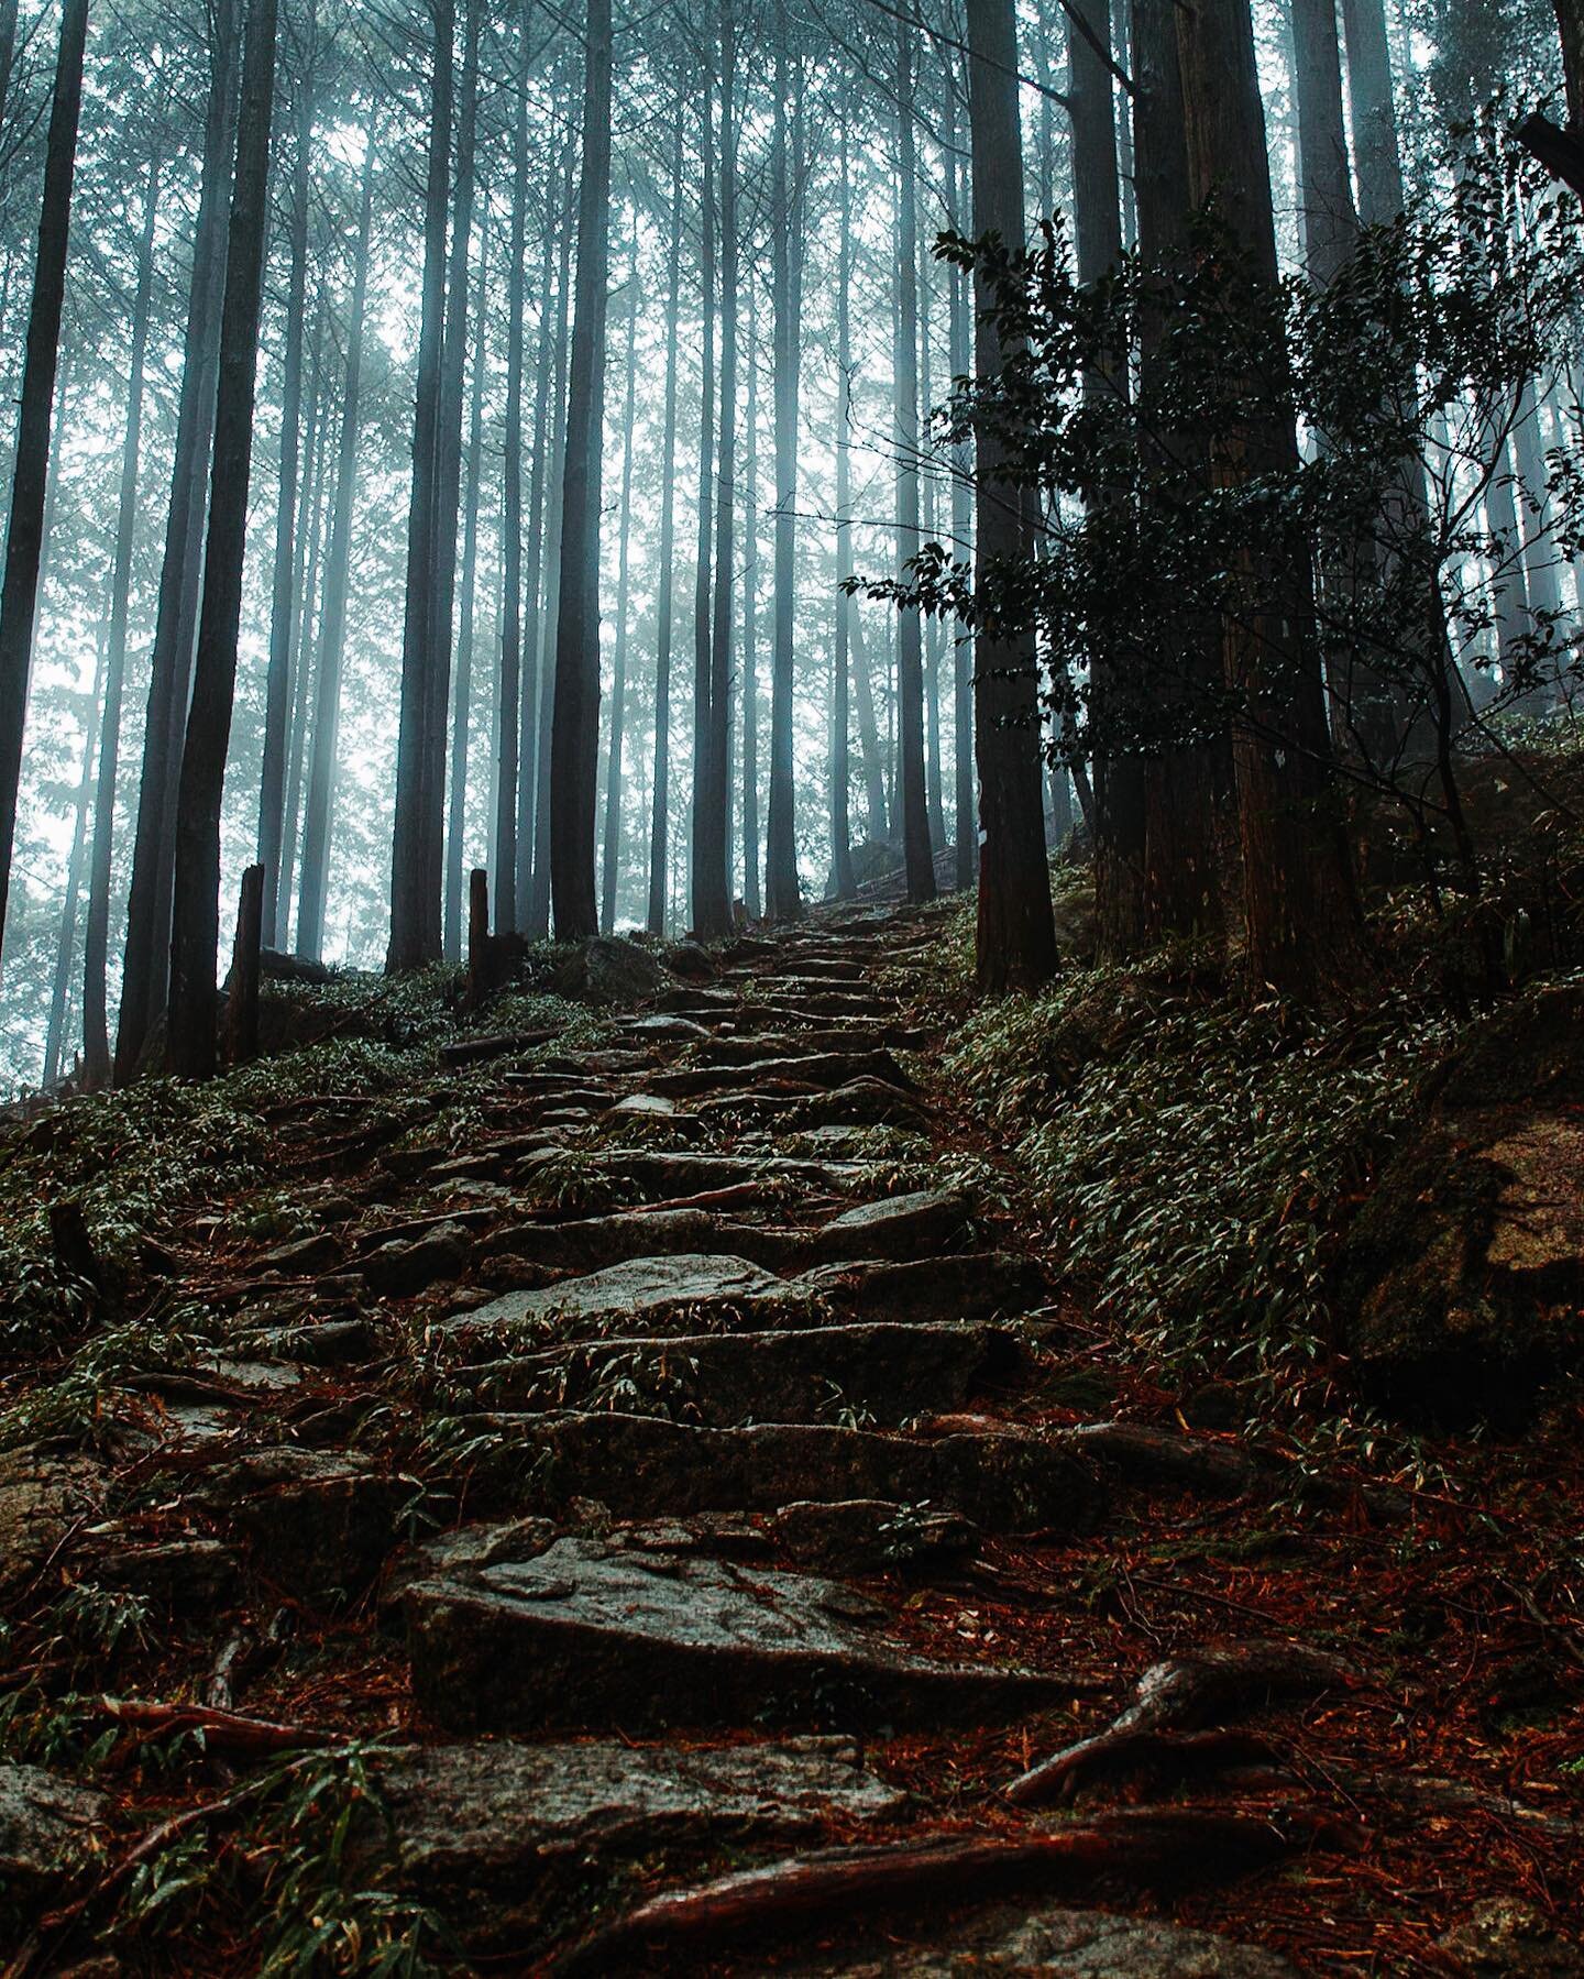
<svg viewBox="0 0 1584 1979">
<path fill-rule="evenodd" d="M 1584 1971 L 1578 1411 L 1190 1425 L 940 912 L 14 1130 L 8 1975 Z"/>
</svg>

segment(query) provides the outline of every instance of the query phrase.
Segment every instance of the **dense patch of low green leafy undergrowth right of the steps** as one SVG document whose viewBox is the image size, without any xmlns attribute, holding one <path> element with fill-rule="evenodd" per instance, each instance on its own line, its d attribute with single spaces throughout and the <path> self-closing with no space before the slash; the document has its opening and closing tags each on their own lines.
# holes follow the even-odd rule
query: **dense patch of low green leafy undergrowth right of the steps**
<svg viewBox="0 0 1584 1979">
<path fill-rule="evenodd" d="M 1263 1381 L 1325 1354 L 1348 1201 L 1447 1037 L 1402 999 L 1327 1021 L 1162 958 L 982 1007 L 946 1075 L 1152 1360 Z"/>
</svg>

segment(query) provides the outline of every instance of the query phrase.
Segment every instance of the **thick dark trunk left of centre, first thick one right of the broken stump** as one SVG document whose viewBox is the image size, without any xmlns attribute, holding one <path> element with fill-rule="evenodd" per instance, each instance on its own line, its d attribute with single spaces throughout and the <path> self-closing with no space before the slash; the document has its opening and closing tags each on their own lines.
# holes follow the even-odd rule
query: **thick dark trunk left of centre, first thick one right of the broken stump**
<svg viewBox="0 0 1584 1979">
<path fill-rule="evenodd" d="M 610 285 L 610 0 L 588 0 L 578 279 L 566 382 L 556 705 L 550 734 L 550 893 L 556 940 L 598 930 L 600 457 Z"/>
</svg>

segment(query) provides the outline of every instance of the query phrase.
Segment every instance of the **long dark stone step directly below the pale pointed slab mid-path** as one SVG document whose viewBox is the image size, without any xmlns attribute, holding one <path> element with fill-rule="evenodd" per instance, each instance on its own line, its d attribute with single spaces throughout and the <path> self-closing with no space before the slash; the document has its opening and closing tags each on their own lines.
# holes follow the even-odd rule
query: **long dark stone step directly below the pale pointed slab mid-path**
<svg viewBox="0 0 1584 1979">
<path fill-rule="evenodd" d="M 602 1338 L 519 1354 L 467 1373 L 487 1407 L 598 1407 L 731 1429 L 735 1423 L 875 1423 L 960 1409 L 1020 1364 L 990 1326 L 818 1326 L 788 1332 Z"/>
</svg>

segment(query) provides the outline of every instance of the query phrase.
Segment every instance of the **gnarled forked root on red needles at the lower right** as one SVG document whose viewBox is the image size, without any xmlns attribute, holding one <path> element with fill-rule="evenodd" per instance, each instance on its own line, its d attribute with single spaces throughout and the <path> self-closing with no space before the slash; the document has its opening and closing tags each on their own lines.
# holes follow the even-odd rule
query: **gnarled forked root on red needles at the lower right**
<svg viewBox="0 0 1584 1979">
<path fill-rule="evenodd" d="M 1170 1656 L 1144 1670 L 1133 1704 L 1115 1724 L 1022 1773 L 1006 1797 L 1020 1807 L 1065 1801 L 1083 1785 L 1148 1763 L 1160 1749 L 1160 1734 L 1247 1718 L 1277 1698 L 1307 1698 L 1350 1682 L 1336 1656 L 1299 1643 L 1241 1643 Z"/>
</svg>

